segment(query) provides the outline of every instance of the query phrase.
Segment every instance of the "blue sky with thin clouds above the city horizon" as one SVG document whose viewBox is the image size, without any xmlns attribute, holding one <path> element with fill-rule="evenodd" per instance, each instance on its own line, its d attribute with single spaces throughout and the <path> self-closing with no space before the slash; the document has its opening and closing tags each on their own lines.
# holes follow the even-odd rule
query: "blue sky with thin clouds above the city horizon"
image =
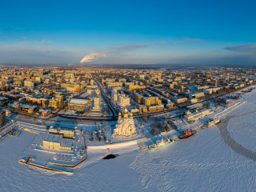
<svg viewBox="0 0 256 192">
<path fill-rule="evenodd" d="M 5 1 L 0 63 L 256 63 L 255 1 Z"/>
</svg>

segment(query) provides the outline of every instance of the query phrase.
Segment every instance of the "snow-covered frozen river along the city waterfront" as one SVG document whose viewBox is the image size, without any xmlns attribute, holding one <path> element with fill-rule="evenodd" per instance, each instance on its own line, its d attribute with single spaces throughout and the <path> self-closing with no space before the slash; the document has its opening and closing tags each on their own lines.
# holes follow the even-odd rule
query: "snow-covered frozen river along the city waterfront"
<svg viewBox="0 0 256 192">
<path fill-rule="evenodd" d="M 248 102 L 224 116 L 226 130 L 242 147 L 256 151 L 256 90 Z M 254 111 L 255 110 L 255 111 Z M 79 126 L 82 126 L 79 125 Z M 87 130 L 96 128 L 88 125 Z M 56 174 L 18 162 L 36 134 L 0 140 L 1 191 L 255 191 L 256 162 L 236 153 L 220 135 L 220 126 L 198 130 L 162 150 L 139 150 L 137 142 L 88 146 L 88 159 L 73 175 Z M 223 128 L 223 129 L 224 129 Z M 107 151 L 109 148 L 110 151 Z M 105 154 L 119 154 L 103 160 Z M 255 153 L 254 153 L 255 154 Z"/>
</svg>

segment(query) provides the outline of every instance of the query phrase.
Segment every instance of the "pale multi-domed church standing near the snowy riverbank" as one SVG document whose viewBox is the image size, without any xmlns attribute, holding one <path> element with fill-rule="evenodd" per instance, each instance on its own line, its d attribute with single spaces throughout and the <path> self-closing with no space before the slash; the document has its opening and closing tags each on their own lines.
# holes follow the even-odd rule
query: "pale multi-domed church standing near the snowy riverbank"
<svg viewBox="0 0 256 192">
<path fill-rule="evenodd" d="M 129 118 L 130 115 L 130 118 Z M 123 112 L 123 118 L 121 113 L 118 114 L 118 124 L 115 126 L 113 136 L 126 136 L 129 137 L 131 134 L 136 134 L 134 126 L 133 114 L 128 114 L 128 110 Z"/>
</svg>

